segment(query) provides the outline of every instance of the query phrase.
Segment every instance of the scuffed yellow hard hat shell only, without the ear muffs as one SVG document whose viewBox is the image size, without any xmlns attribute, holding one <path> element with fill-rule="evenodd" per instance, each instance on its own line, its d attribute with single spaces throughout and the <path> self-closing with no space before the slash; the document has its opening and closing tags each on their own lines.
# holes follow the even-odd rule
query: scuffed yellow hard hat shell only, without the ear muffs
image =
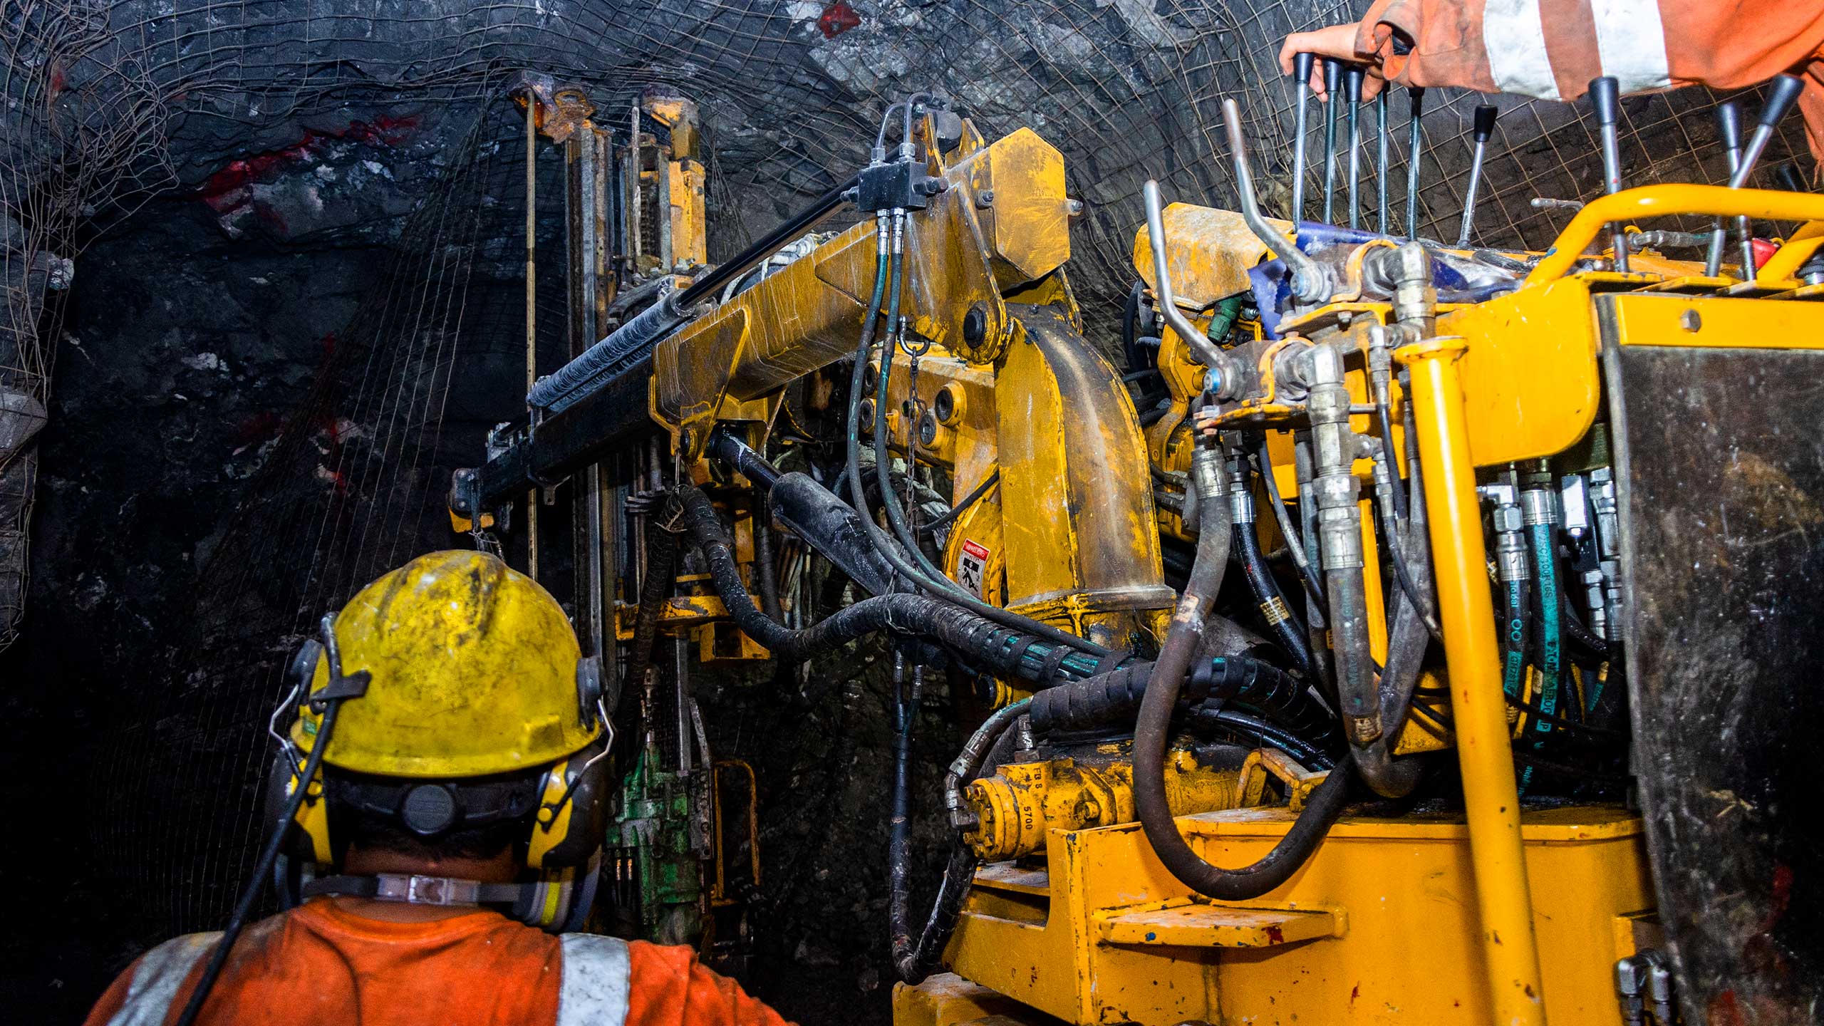
<svg viewBox="0 0 1824 1026">
<path fill-rule="evenodd" d="M 323 761 L 352 772 L 465 778 L 529 770 L 600 736 L 564 608 L 480 551 L 436 551 L 361 590 L 336 617 L 345 674 L 372 674 Z M 328 683 L 319 659 L 310 690 Z M 591 681 L 593 685 L 593 681 Z M 299 710 L 310 750 L 321 716 Z"/>
</svg>

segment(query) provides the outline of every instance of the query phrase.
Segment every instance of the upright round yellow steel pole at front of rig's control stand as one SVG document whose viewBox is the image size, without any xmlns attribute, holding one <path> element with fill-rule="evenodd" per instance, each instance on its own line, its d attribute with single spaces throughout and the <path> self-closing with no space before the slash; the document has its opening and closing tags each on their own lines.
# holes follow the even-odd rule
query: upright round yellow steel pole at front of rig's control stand
<svg viewBox="0 0 1824 1026">
<path fill-rule="evenodd" d="M 1401 347 L 1394 358 L 1412 369 L 1437 615 L 1450 665 L 1450 716 L 1463 770 L 1494 1021 L 1499 1026 L 1545 1026 L 1532 895 L 1519 840 L 1519 792 L 1514 787 L 1494 601 L 1488 593 L 1488 550 L 1457 374 L 1457 358 L 1465 349 L 1461 338 L 1430 338 Z"/>
</svg>

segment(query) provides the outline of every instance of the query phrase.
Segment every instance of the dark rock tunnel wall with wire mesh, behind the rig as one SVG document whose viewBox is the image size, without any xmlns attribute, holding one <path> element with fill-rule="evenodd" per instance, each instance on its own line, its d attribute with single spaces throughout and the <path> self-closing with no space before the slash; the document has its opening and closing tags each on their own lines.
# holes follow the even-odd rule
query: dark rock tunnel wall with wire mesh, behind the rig
<svg viewBox="0 0 1824 1026">
<path fill-rule="evenodd" d="M 449 471 L 520 400 L 514 73 L 604 108 L 649 84 L 693 97 L 711 259 L 863 162 L 899 95 L 938 89 L 989 137 L 1029 124 L 1087 204 L 1071 274 L 1107 327 L 1145 177 L 1233 203 L 1220 97 L 1242 100 L 1264 203 L 1284 208 L 1293 93 L 1273 53 L 1350 7 L 0 2 L 0 765 L 44 823 L 15 831 L 9 862 L 57 924 L 20 944 L 7 988 L 77 1015 L 148 942 L 219 926 L 259 831 L 277 668 L 361 582 L 461 540 Z M 1425 234 L 1456 228 L 1476 102 L 1434 97 Z M 1627 179 L 1720 181 L 1713 102 L 1629 100 Z M 1479 237 L 1543 246 L 1561 215 L 1529 199 L 1600 190 L 1594 130 L 1581 106 L 1499 104 Z M 1764 166 L 1795 153 L 1797 120 Z M 565 345 L 558 164 L 545 148 L 547 369 Z M 808 1021 L 857 993 L 877 1013 L 890 982 L 886 685 L 834 674 L 700 696 L 720 750 L 761 769 L 762 969 Z M 958 716 L 932 701 L 927 719 L 928 811 Z M 927 853 L 936 836 L 927 822 Z"/>
</svg>

